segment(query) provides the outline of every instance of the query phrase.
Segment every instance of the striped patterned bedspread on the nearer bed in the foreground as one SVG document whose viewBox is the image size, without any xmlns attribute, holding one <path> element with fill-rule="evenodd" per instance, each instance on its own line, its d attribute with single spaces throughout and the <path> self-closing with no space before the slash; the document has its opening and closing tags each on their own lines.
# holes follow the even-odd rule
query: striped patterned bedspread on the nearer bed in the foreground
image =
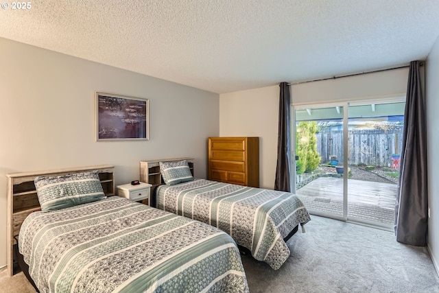
<svg viewBox="0 0 439 293">
<path fill-rule="evenodd" d="M 29 215 L 19 250 L 40 292 L 248 292 L 219 229 L 112 196 Z"/>
</svg>

